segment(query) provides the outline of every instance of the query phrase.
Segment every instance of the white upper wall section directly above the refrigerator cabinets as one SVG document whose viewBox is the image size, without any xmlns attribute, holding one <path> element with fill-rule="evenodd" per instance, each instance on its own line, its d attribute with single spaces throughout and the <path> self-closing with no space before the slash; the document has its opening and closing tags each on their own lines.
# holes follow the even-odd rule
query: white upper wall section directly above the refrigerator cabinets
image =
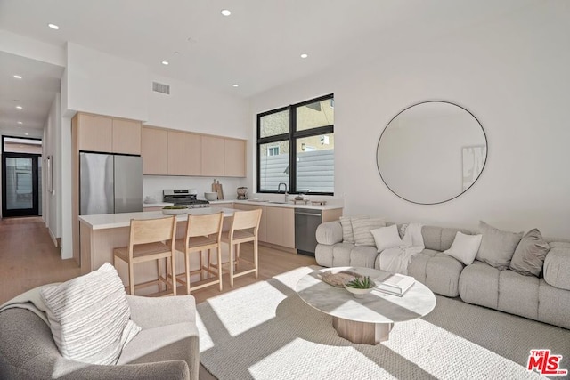
<svg viewBox="0 0 570 380">
<path fill-rule="evenodd" d="M 151 82 L 146 66 L 67 44 L 67 95 L 63 108 L 146 120 Z M 65 112 L 69 115 L 69 112 Z"/>
</svg>

